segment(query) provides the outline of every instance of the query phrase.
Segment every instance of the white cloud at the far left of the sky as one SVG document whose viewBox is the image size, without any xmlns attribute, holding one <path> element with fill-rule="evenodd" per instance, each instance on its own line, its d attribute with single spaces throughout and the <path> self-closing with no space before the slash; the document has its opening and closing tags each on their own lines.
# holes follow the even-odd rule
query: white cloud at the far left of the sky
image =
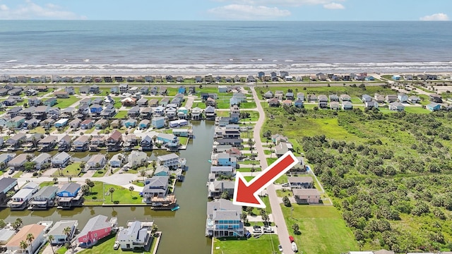
<svg viewBox="0 0 452 254">
<path fill-rule="evenodd" d="M 25 4 L 20 4 L 14 8 L 0 5 L 0 20 L 26 20 L 26 19 L 61 19 L 74 20 L 85 19 L 84 16 L 79 16 L 71 11 L 64 11 L 61 6 L 55 4 L 46 4 L 40 6 L 33 3 L 31 0 L 25 0 Z"/>
</svg>

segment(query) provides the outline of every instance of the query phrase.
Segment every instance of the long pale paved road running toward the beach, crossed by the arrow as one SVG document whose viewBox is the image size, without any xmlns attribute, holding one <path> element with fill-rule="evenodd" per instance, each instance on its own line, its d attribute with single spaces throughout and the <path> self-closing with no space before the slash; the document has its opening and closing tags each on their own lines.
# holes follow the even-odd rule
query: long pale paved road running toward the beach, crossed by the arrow
<svg viewBox="0 0 452 254">
<path fill-rule="evenodd" d="M 260 100 L 256 94 L 256 90 L 254 87 L 251 87 L 251 92 L 253 93 L 254 101 L 257 104 L 257 109 L 259 111 L 259 119 L 254 126 L 254 142 L 256 144 L 256 150 L 258 152 L 258 158 L 261 162 L 262 169 L 266 169 L 268 167 L 267 160 L 265 154 L 263 153 L 263 147 L 261 143 L 260 130 L 263 125 L 263 121 L 265 120 L 265 113 L 263 112 L 263 108 L 261 103 L 258 103 Z M 289 231 L 287 231 L 287 225 L 285 224 L 283 210 L 281 210 L 280 202 L 278 199 L 278 195 L 276 195 L 275 186 L 272 184 L 267 188 L 268 198 L 270 198 L 270 206 L 273 214 L 273 219 L 275 224 L 278 225 L 278 238 L 280 240 L 281 246 L 283 246 L 283 250 L 285 254 L 292 254 L 292 246 L 289 241 Z"/>
</svg>

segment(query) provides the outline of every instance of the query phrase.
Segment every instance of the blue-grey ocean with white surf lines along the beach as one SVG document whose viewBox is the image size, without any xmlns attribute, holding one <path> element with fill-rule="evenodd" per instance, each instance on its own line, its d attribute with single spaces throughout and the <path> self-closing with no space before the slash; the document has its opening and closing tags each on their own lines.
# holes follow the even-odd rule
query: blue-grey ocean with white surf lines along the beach
<svg viewBox="0 0 452 254">
<path fill-rule="evenodd" d="M 451 25 L 0 20 L 0 75 L 450 72 Z"/>
</svg>

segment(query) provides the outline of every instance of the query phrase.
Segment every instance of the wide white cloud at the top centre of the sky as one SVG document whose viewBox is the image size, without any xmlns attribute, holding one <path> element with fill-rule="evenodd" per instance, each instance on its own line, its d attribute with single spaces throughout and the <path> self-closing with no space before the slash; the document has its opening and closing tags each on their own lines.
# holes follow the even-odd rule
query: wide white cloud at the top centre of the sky
<svg viewBox="0 0 452 254">
<path fill-rule="evenodd" d="M 245 4 L 230 4 L 208 10 L 220 18 L 236 20 L 267 20 L 271 18 L 280 18 L 290 16 L 290 11 L 281 10 L 277 7 L 252 6 Z"/>
</svg>

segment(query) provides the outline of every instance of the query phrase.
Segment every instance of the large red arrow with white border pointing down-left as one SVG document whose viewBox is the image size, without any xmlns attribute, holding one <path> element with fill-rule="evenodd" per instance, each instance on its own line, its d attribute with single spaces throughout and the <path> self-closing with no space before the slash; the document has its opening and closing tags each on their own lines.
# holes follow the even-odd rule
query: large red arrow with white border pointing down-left
<svg viewBox="0 0 452 254">
<path fill-rule="evenodd" d="M 265 208 L 266 205 L 261 198 L 258 198 L 257 193 L 263 191 L 263 189 L 267 188 L 297 163 L 298 160 L 295 155 L 292 152 L 286 152 L 276 162 L 273 162 L 270 167 L 263 170 L 249 182 L 246 182 L 243 175 L 237 172 L 232 202 L 234 205 Z"/>
</svg>

